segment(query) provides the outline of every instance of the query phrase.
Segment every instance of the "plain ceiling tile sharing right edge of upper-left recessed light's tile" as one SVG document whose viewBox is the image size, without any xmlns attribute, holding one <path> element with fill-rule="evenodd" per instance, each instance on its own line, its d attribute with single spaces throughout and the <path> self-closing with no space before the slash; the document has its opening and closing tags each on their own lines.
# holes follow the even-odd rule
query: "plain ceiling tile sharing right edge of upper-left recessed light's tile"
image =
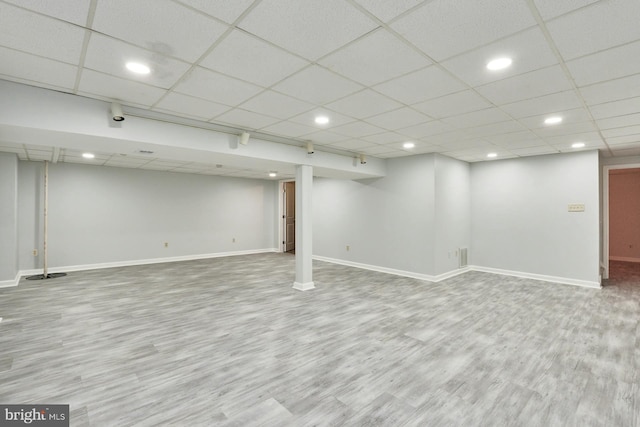
<svg viewBox="0 0 640 427">
<path fill-rule="evenodd" d="M 225 105 L 240 104 L 261 90 L 259 86 L 201 67 L 196 67 L 175 87 L 176 92 Z"/>
</svg>

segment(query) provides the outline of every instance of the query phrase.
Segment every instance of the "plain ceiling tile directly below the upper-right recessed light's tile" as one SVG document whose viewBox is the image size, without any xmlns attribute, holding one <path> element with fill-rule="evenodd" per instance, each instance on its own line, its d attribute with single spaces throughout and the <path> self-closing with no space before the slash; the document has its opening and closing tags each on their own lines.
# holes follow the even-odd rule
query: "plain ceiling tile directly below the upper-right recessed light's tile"
<svg viewBox="0 0 640 427">
<path fill-rule="evenodd" d="M 571 90 L 559 65 L 479 86 L 476 90 L 496 105 Z"/>
</svg>

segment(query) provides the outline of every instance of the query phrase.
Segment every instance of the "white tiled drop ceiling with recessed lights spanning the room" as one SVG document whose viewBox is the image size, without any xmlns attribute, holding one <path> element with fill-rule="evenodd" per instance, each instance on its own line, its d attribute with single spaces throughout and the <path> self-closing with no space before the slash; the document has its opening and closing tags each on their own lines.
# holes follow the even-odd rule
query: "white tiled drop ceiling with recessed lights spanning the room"
<svg viewBox="0 0 640 427">
<path fill-rule="evenodd" d="M 640 155 L 638 16 L 638 0 L 0 0 L 0 79 L 383 159 Z M 0 135 L 21 158 L 83 161 L 56 150 Z"/>
</svg>

